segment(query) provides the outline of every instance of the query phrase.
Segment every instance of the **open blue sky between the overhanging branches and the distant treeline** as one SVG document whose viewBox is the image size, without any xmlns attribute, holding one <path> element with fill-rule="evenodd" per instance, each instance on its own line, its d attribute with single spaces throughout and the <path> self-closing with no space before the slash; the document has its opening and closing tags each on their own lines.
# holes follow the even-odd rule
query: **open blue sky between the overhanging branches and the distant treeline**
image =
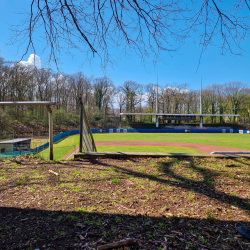
<svg viewBox="0 0 250 250">
<path fill-rule="evenodd" d="M 18 44 L 7 45 L 7 43 L 11 36 L 11 25 L 18 24 L 21 19 L 17 13 L 28 10 L 30 2 L 31 0 L 0 0 L 0 55 L 6 60 L 17 61 L 24 52 L 23 46 L 18 48 Z M 187 83 L 191 89 L 199 89 L 201 77 L 203 86 L 228 81 L 250 83 L 250 38 L 242 42 L 242 48 L 245 50 L 242 56 L 231 54 L 222 56 L 217 47 L 209 47 L 202 55 L 198 71 L 201 48 L 195 43 L 196 40 L 194 34 L 173 57 L 168 53 L 163 53 L 165 63 L 158 62 L 155 66 L 152 63 L 142 65 L 140 58 L 131 55 L 130 58 L 117 61 L 113 68 L 107 67 L 104 72 L 100 67 L 98 57 L 93 58 L 91 64 L 83 64 L 84 54 L 76 53 L 73 58 L 62 55 L 60 69 L 69 74 L 82 71 L 87 76 L 106 75 L 113 80 L 115 85 L 121 85 L 126 80 L 133 80 L 144 85 L 156 83 L 157 74 L 160 85 L 166 86 L 167 83 L 173 82 Z M 111 52 L 116 54 L 112 48 Z M 47 67 L 47 55 L 41 51 L 39 44 L 36 54 L 41 58 L 42 65 Z M 29 54 L 24 57 L 24 60 L 27 61 L 28 58 Z M 56 70 L 53 65 L 52 69 Z"/>
</svg>

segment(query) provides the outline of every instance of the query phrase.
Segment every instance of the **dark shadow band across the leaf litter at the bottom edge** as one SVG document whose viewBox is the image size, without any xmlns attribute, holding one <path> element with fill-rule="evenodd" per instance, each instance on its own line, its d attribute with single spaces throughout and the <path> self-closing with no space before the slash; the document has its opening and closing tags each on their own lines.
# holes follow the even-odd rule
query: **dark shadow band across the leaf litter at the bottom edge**
<svg viewBox="0 0 250 250">
<path fill-rule="evenodd" d="M 136 243 L 127 250 L 249 249 L 250 245 L 237 234 L 239 225 L 249 226 L 241 221 L 11 207 L 1 207 L 0 218 L 1 249 L 96 249 L 128 238 Z"/>
</svg>

